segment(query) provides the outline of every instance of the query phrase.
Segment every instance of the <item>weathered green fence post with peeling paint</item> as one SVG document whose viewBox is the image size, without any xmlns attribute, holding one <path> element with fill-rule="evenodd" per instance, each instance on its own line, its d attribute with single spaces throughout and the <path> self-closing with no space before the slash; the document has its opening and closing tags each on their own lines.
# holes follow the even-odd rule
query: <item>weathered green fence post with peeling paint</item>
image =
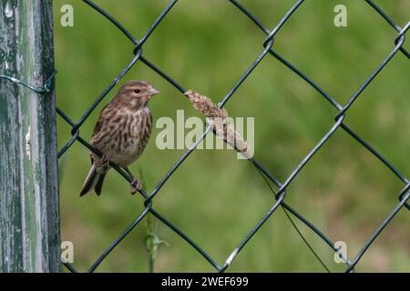
<svg viewBox="0 0 410 291">
<path fill-rule="evenodd" d="M 43 87 L 54 72 L 52 0 L 3 0 L 0 74 Z M 0 78 L 0 272 L 59 272 L 54 82 Z"/>
</svg>

